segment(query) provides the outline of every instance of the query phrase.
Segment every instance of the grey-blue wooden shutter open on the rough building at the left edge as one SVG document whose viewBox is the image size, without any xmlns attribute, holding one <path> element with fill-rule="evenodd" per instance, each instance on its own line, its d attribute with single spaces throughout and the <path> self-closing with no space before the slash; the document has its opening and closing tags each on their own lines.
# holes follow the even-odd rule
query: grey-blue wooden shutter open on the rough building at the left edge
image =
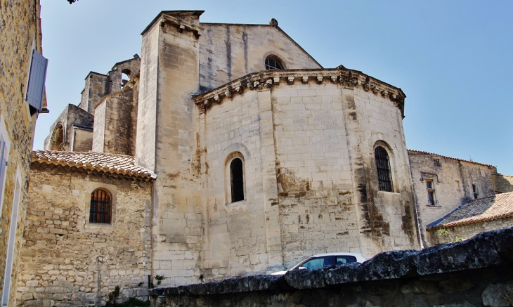
<svg viewBox="0 0 513 307">
<path fill-rule="evenodd" d="M 29 84 L 25 100 L 34 109 L 41 111 L 43 105 L 44 81 L 46 80 L 46 67 L 48 60 L 37 50 L 32 51 L 30 62 Z"/>
</svg>

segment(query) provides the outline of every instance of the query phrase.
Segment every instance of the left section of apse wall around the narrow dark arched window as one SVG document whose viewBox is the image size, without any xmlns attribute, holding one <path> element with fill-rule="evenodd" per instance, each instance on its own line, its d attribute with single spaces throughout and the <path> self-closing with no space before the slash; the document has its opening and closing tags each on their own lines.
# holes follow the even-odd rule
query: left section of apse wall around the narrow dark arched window
<svg viewBox="0 0 513 307">
<path fill-rule="evenodd" d="M 273 157 L 274 150 L 272 122 L 269 122 L 271 143 L 263 141 L 269 135 L 264 134 L 266 127 L 262 126 L 260 94 L 249 91 L 243 97 L 215 105 L 205 116 L 205 134 L 200 137 L 206 144 L 208 165 L 204 184 L 208 185 L 209 220 L 202 253 L 207 277 L 265 273 L 268 253 L 280 252 L 267 249 L 265 202 L 268 197 L 264 191 L 262 148 L 271 145 L 269 153 Z M 268 91 L 266 94 L 269 95 Z M 271 119 L 271 114 L 266 117 Z M 232 202 L 229 168 L 236 157 L 244 164 L 245 200 Z"/>
</svg>

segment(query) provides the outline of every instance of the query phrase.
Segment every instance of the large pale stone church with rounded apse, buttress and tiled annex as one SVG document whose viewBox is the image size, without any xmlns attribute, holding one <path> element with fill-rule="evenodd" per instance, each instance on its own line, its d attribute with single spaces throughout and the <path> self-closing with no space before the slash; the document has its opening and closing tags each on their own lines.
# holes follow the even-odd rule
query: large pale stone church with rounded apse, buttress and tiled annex
<svg viewBox="0 0 513 307">
<path fill-rule="evenodd" d="M 441 207 L 433 187 L 456 175 L 446 157 L 408 152 L 405 93 L 322 67 L 276 20 L 203 23 L 202 13 L 157 15 L 141 57 L 91 72 L 79 105 L 34 151 L 18 278 L 26 306 L 102 304 L 115 287 L 142 298 L 311 254 L 429 244 L 418 195 Z M 495 166 L 465 165 L 461 176 L 474 177 L 457 179 L 466 190 L 452 201 L 471 197 L 471 184 L 493 195 Z"/>
</svg>

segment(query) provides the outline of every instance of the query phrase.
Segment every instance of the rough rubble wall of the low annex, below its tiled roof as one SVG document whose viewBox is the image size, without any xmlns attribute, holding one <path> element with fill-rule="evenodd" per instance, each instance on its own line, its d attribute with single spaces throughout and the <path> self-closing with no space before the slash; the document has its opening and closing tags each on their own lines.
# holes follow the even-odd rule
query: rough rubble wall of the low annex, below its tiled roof
<svg viewBox="0 0 513 307">
<path fill-rule="evenodd" d="M 148 294 L 152 183 L 34 166 L 18 276 L 20 306 L 98 306 Z M 89 223 L 91 192 L 112 195 L 110 224 Z"/>
</svg>

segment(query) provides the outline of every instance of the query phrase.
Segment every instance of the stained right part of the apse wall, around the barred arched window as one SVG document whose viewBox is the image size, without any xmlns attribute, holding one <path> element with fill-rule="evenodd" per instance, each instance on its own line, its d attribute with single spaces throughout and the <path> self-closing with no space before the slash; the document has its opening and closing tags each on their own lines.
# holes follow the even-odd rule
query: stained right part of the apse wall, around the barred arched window
<svg viewBox="0 0 513 307">
<path fill-rule="evenodd" d="M 272 92 L 285 263 L 319 252 L 417 247 L 401 111 L 342 84 Z M 377 187 L 375 145 L 389 148 L 394 192 Z"/>
</svg>

